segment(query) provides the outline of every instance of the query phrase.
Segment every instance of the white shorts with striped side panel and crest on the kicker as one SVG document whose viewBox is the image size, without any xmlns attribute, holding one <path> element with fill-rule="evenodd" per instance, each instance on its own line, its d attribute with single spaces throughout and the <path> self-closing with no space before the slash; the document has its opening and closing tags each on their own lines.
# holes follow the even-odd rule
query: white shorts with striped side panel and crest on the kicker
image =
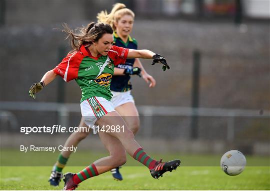
<svg viewBox="0 0 270 191">
<path fill-rule="evenodd" d="M 93 128 L 97 119 L 103 115 L 115 111 L 111 101 L 102 97 L 90 97 L 80 103 L 81 115 L 84 123 Z"/>
</svg>

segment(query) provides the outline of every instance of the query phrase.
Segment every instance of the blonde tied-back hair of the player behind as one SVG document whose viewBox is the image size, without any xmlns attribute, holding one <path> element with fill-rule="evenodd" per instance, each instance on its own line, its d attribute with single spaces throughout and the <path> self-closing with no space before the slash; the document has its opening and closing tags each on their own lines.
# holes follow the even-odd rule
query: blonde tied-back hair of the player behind
<svg viewBox="0 0 270 191">
<path fill-rule="evenodd" d="M 118 22 L 118 20 L 123 17 L 124 15 L 130 15 L 133 19 L 135 18 L 135 14 L 125 7 L 124 4 L 114 4 L 112 6 L 112 10 L 109 14 L 107 14 L 107 11 L 101 11 L 97 14 L 97 22 L 103 22 L 109 24 L 113 31 L 116 30 L 116 27 L 114 26 L 114 22 Z"/>
</svg>

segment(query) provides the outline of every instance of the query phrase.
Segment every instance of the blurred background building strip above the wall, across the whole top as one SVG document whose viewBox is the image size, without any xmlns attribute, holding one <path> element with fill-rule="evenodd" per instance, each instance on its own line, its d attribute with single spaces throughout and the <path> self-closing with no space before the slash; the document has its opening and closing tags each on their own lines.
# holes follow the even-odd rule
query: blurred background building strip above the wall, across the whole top
<svg viewBox="0 0 270 191">
<path fill-rule="evenodd" d="M 95 20 L 95 11 L 124 3 L 142 19 L 270 19 L 268 0 L 153 0 L 153 1 L 0 1 L 0 25 L 49 24 Z M 50 11 L 47 11 L 50 10 Z M 34 17 L 33 15 L 34 14 Z M 40 23 L 41 21 L 41 23 Z"/>
</svg>

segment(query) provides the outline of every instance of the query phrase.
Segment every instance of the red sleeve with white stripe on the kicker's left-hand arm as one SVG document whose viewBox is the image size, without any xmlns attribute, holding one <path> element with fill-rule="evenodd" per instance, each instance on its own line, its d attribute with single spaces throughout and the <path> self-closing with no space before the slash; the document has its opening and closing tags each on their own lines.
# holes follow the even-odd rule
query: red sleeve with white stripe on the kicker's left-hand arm
<svg viewBox="0 0 270 191">
<path fill-rule="evenodd" d="M 76 79 L 82 59 L 83 55 L 81 53 L 70 53 L 53 69 L 53 72 L 61 76 L 65 82 Z"/>
</svg>

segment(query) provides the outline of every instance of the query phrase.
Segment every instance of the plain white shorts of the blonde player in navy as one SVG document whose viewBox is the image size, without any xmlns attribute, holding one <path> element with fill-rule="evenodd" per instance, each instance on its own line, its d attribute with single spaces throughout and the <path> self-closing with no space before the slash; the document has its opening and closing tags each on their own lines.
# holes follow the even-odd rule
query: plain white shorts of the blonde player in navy
<svg viewBox="0 0 270 191">
<path fill-rule="evenodd" d="M 112 93 L 112 98 L 111 98 L 111 102 L 114 105 L 114 108 L 125 104 L 127 102 L 132 102 L 134 103 L 134 99 L 132 97 L 132 95 L 130 94 L 130 90 L 127 92 L 114 92 L 111 91 Z"/>
</svg>

